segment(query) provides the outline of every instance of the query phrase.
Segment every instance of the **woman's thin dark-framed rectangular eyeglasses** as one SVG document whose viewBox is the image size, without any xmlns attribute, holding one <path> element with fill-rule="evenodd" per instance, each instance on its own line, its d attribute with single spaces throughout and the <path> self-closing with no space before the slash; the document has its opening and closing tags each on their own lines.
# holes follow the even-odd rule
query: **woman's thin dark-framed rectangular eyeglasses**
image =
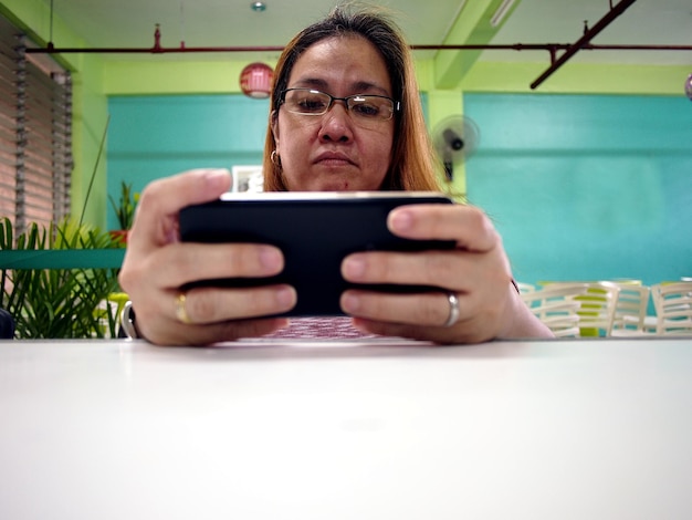
<svg viewBox="0 0 692 520">
<path fill-rule="evenodd" d="M 312 89 L 286 89 L 281 103 L 293 114 L 324 115 L 335 101 L 343 101 L 349 114 L 358 122 L 389 121 L 399 111 L 400 103 L 391 97 L 375 94 L 355 94 L 335 97 Z"/>
</svg>

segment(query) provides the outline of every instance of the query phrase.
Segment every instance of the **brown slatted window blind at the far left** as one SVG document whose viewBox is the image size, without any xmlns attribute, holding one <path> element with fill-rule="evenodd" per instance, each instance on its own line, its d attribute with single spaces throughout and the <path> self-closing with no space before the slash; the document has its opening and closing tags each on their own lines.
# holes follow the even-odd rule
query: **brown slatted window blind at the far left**
<svg viewBox="0 0 692 520">
<path fill-rule="evenodd" d="M 0 17 L 0 216 L 17 232 L 70 214 L 72 81 Z"/>
</svg>

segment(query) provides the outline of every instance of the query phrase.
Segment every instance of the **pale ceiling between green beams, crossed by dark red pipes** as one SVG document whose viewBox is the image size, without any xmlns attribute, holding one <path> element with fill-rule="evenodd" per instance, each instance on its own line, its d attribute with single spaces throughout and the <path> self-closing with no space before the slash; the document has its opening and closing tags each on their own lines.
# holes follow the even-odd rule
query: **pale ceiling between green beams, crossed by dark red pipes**
<svg viewBox="0 0 692 520">
<path fill-rule="evenodd" d="M 50 6 L 51 0 L 44 0 Z M 474 0 L 468 0 L 471 4 Z M 161 45 L 281 46 L 304 25 L 323 17 L 335 0 L 265 0 L 266 10 L 254 12 L 250 0 L 53 0 L 54 14 L 90 46 L 149 48 L 154 28 L 161 25 Z M 517 0 L 491 43 L 573 43 L 594 25 L 616 0 Z M 445 42 L 463 0 L 382 0 L 415 45 Z M 468 7 L 466 7 L 468 8 Z M 691 45 L 691 0 L 638 0 L 594 41 L 596 44 Z M 60 48 L 61 42 L 55 41 Z M 62 43 L 64 46 L 64 43 Z M 277 52 L 252 53 L 272 60 Z M 420 52 L 418 54 L 421 54 Z M 430 55 L 430 52 L 427 52 Z M 123 54 L 109 54 L 113 59 Z M 150 54 L 137 55 L 151 59 Z M 135 55 L 129 55 L 133 59 Z M 200 59 L 199 54 L 169 54 L 157 59 Z M 219 54 L 205 59 L 218 59 Z M 247 58 L 243 54 L 243 58 Z M 228 59 L 228 54 L 223 56 Z M 546 51 L 484 51 L 487 61 L 539 61 L 549 64 Z M 581 51 L 575 62 L 690 65 L 691 51 Z"/>
</svg>

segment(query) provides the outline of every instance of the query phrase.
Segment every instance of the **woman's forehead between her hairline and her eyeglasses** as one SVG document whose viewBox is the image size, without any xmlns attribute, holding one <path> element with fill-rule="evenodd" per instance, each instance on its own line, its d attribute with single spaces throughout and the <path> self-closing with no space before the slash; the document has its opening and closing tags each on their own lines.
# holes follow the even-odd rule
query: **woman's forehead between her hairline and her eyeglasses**
<svg viewBox="0 0 692 520">
<path fill-rule="evenodd" d="M 350 34 L 326 38 L 308 46 L 295 62 L 289 86 L 391 93 L 381 53 L 365 38 Z"/>
</svg>

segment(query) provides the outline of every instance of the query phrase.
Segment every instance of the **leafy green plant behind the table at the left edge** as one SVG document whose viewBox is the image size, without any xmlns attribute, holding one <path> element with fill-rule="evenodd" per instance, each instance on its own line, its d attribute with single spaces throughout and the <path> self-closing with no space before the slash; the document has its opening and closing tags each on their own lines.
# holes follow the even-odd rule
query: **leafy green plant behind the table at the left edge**
<svg viewBox="0 0 692 520">
<path fill-rule="evenodd" d="M 0 249 L 104 249 L 116 247 L 108 233 L 72 219 L 35 222 L 14 237 L 12 222 L 0 221 Z M 2 308 L 17 322 L 20 339 L 115 337 L 117 305 L 109 294 L 119 290 L 116 269 L 2 269 Z M 106 302 L 105 309 L 101 305 Z M 115 308 L 115 309 L 114 309 Z"/>
</svg>

